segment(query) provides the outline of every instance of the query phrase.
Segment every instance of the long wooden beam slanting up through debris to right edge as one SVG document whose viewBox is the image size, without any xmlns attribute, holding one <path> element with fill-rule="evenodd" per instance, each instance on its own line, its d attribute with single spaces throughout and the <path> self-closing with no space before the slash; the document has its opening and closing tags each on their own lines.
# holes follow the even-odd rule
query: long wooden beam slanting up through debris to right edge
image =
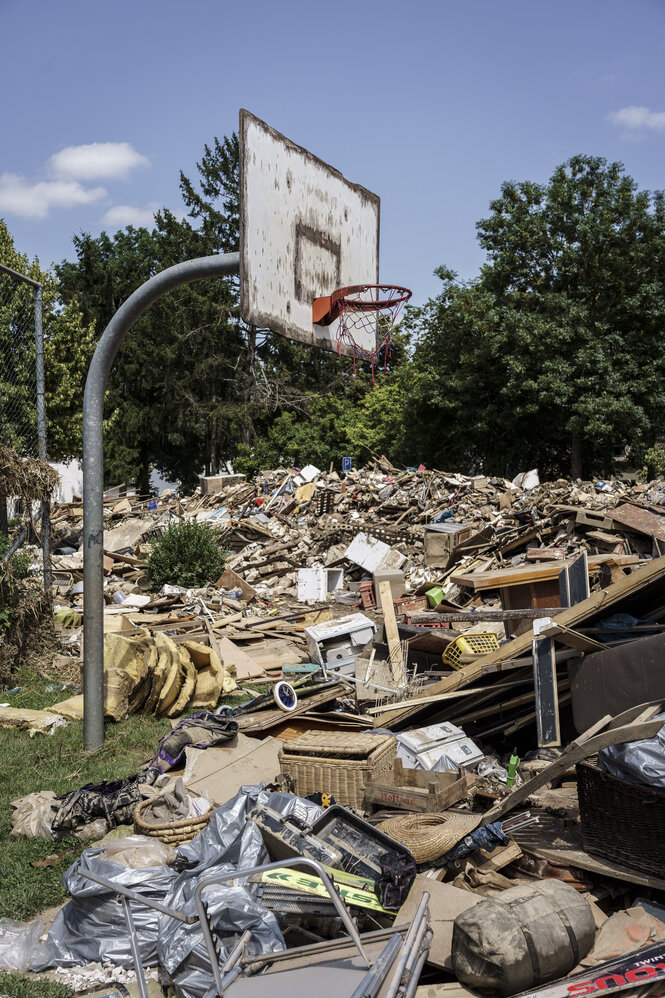
<svg viewBox="0 0 665 998">
<path fill-rule="evenodd" d="M 613 582 L 606 589 L 592 593 L 588 599 L 578 603 L 577 606 L 571 606 L 563 610 L 557 615 L 557 624 L 569 626 L 579 621 L 587 620 L 597 613 L 601 607 L 609 615 L 610 607 L 620 602 L 624 597 L 639 592 L 640 589 L 663 576 L 665 576 L 665 555 L 647 562 L 646 565 L 638 568 L 637 571 L 632 572 L 630 575 L 625 575 L 618 582 Z M 518 637 L 513 638 L 512 641 L 508 641 L 505 645 L 502 645 L 498 651 L 490 652 L 489 655 L 482 655 L 477 661 L 465 665 L 452 675 L 446 676 L 437 683 L 433 683 L 427 689 L 428 694 L 435 695 L 438 693 L 448 693 L 450 690 L 461 689 L 464 686 L 468 686 L 469 683 L 482 676 L 485 672 L 493 671 L 493 669 L 500 670 L 502 663 L 506 660 L 519 658 L 520 655 L 526 654 L 531 648 L 532 638 L 533 631 L 529 631 L 527 634 L 520 634 Z M 393 724 L 407 718 L 410 713 L 417 709 L 417 707 L 396 708 L 391 714 L 384 715 L 381 721 L 383 724 Z"/>
</svg>

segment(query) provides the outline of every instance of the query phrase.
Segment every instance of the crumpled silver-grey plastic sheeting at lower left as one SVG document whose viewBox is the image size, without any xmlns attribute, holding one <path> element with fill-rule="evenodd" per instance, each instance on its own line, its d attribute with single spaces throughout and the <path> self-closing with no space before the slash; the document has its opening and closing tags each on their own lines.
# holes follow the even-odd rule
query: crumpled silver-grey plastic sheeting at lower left
<svg viewBox="0 0 665 998">
<path fill-rule="evenodd" d="M 87 849 L 63 878 L 72 900 L 56 917 L 41 957 L 32 969 L 107 960 L 131 966 L 122 907 L 114 894 L 87 880 L 82 873 L 89 870 L 136 891 L 146 900 L 193 915 L 194 892 L 201 878 L 268 862 L 261 834 L 246 817 L 256 801 L 282 813 L 297 809 L 317 817 L 322 810 L 291 794 L 242 787 L 236 797 L 217 808 L 208 826 L 196 838 L 178 849 L 177 867 L 181 872 L 168 866 L 130 869 L 104 859 L 106 846 Z M 275 916 L 254 900 L 253 890 L 251 885 L 239 887 L 229 882 L 204 892 L 214 931 L 222 945 L 222 962 L 246 929 L 252 933 L 248 946 L 252 955 L 285 948 Z M 198 923 L 186 925 L 145 905 L 133 901 L 130 904 L 144 965 L 159 962 L 177 984 L 182 998 L 203 998 L 213 978 Z"/>
</svg>

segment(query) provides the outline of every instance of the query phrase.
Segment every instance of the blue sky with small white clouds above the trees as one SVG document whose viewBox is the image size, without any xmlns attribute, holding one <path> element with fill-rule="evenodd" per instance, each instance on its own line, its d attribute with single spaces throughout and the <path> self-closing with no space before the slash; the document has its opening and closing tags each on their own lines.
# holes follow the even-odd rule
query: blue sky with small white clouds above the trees
<svg viewBox="0 0 665 998">
<path fill-rule="evenodd" d="M 42 266 L 180 209 L 240 107 L 380 195 L 415 302 L 477 273 L 504 180 L 581 152 L 665 187 L 663 0 L 0 0 L 0 34 L 0 217 Z"/>
</svg>

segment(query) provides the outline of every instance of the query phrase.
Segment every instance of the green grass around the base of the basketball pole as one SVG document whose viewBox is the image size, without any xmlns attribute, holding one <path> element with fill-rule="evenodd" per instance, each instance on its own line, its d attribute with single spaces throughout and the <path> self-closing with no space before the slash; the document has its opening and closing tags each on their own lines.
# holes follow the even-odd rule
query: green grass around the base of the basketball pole
<svg viewBox="0 0 665 998">
<path fill-rule="evenodd" d="M 53 687 L 46 679 L 27 668 L 14 675 L 14 685 L 21 692 L 2 698 L 15 707 L 42 709 L 68 694 Z M 0 917 L 27 921 L 67 897 L 61 878 L 68 866 L 86 848 L 78 839 L 10 838 L 9 801 L 37 790 L 56 794 L 78 790 L 85 783 L 124 779 L 134 774 L 150 759 L 159 739 L 170 729 L 164 718 L 136 715 L 117 724 L 106 725 L 106 740 L 96 752 L 83 752 L 83 724 L 71 721 L 52 735 L 0 728 L 0 757 L 3 780 L 0 783 Z M 57 866 L 35 869 L 31 861 L 45 859 L 52 853 L 75 848 Z M 0 988 L 0 995 L 2 994 Z M 36 994 L 37 992 L 33 992 Z M 49 992 L 45 992 L 49 993 Z M 27 992 L 26 992 L 27 994 Z M 56 992 L 53 992 L 56 994 Z"/>
</svg>

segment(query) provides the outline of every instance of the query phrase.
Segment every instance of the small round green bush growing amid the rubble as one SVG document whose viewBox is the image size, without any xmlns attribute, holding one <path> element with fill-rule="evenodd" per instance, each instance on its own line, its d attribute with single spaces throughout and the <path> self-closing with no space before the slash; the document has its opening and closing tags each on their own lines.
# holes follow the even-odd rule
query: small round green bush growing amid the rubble
<svg viewBox="0 0 665 998">
<path fill-rule="evenodd" d="M 224 571 L 227 554 L 207 524 L 195 520 L 176 524 L 150 542 L 147 563 L 150 587 L 157 591 L 168 583 L 198 589 L 216 582 Z"/>
</svg>

